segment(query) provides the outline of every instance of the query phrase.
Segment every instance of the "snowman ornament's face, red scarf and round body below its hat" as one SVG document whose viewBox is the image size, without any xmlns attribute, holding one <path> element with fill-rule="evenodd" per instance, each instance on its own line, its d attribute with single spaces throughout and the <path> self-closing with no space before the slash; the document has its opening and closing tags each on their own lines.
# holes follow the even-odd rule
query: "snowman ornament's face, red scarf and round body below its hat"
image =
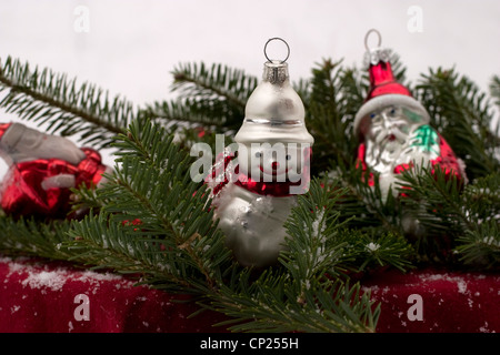
<svg viewBox="0 0 500 355">
<path fill-rule="evenodd" d="M 224 166 L 228 182 L 214 199 L 214 216 L 240 264 L 263 267 L 278 261 L 286 248 L 284 222 L 297 194 L 309 187 L 310 155 L 308 143 L 240 143 L 238 158 Z"/>
</svg>

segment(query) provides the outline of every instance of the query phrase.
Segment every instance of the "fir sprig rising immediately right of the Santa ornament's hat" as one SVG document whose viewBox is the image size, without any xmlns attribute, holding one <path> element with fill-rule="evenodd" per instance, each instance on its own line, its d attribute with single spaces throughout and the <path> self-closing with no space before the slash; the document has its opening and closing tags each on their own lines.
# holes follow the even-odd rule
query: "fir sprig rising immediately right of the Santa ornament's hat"
<svg viewBox="0 0 500 355">
<path fill-rule="evenodd" d="M 500 125 L 492 131 L 492 111 L 486 93 L 467 77 L 441 68 L 422 75 L 417 89 L 431 124 L 439 128 L 454 153 L 466 162 L 469 180 L 498 171 Z"/>
</svg>

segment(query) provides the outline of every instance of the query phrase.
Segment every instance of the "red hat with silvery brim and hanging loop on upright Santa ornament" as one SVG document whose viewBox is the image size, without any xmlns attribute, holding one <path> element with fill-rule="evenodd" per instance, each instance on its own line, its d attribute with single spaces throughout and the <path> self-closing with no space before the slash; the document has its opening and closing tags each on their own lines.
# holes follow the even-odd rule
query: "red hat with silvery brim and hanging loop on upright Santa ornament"
<svg viewBox="0 0 500 355">
<path fill-rule="evenodd" d="M 367 33 L 367 39 L 371 31 Z M 370 49 L 368 45 L 367 50 L 364 63 L 370 74 L 370 90 L 363 105 L 356 114 L 354 133 L 363 138 L 371 125 L 371 113 L 391 105 L 402 105 L 416 113 L 413 120 L 418 118 L 419 124 L 429 123 L 429 113 L 423 105 L 412 97 L 408 88 L 396 80 L 390 63 L 390 50 L 380 47 Z"/>
</svg>

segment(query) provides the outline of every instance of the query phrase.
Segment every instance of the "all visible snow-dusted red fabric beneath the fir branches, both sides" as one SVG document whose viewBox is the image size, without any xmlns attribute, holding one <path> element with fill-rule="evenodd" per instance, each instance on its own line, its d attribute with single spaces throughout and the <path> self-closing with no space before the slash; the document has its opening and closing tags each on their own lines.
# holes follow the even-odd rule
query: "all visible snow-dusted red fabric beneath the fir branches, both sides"
<svg viewBox="0 0 500 355">
<path fill-rule="evenodd" d="M 500 332 L 500 275 L 433 270 L 386 271 L 362 282 L 381 303 L 379 333 Z M 409 318 L 420 295 L 422 321 Z M 89 320 L 77 320 L 89 300 Z M 0 257 L 2 333 L 213 333 L 224 320 L 213 312 L 189 318 L 198 306 L 179 295 L 133 286 L 122 276 L 30 258 Z M 181 297 L 189 301 L 188 296 Z M 78 308 L 80 307 L 80 308 Z M 410 310 L 411 311 L 411 310 Z M 410 312 L 412 313 L 412 312 Z"/>
</svg>

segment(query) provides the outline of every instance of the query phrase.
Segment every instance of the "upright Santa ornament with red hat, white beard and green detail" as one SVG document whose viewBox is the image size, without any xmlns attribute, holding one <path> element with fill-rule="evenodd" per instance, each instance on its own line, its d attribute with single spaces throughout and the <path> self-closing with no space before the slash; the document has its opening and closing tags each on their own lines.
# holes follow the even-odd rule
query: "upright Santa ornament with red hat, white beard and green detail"
<svg viewBox="0 0 500 355">
<path fill-rule="evenodd" d="M 379 38 L 377 48 L 369 48 L 371 33 Z M 354 118 L 354 134 L 360 140 L 358 162 L 366 171 L 378 173 L 386 200 L 397 195 L 398 176 L 408 169 L 439 165 L 447 175 L 466 180 L 459 161 L 446 140 L 429 125 L 430 116 L 410 91 L 397 82 L 390 63 L 390 50 L 380 47 L 381 36 L 370 30 L 364 38 L 364 65 L 370 75 L 370 90 Z M 368 176 L 374 185 L 373 173 Z"/>
</svg>

